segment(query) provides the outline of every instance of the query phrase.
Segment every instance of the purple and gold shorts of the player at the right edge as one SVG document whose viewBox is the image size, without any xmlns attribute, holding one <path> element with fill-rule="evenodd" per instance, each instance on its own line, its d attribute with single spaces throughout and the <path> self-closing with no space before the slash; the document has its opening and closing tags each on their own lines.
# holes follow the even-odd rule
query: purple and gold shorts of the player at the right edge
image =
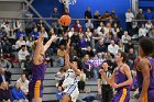
<svg viewBox="0 0 154 102">
<path fill-rule="evenodd" d="M 139 94 L 141 89 L 139 89 Z M 145 94 L 144 102 L 154 102 L 154 89 L 148 89 L 147 94 Z"/>
</svg>

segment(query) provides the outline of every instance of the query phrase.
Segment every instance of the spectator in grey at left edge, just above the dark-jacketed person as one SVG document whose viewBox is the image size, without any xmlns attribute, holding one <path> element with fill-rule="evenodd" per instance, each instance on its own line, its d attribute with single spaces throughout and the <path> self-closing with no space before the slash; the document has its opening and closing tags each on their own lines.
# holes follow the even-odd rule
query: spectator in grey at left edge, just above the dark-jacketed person
<svg viewBox="0 0 154 102">
<path fill-rule="evenodd" d="M 0 57 L 0 68 L 3 68 L 4 70 L 11 69 L 12 65 L 10 61 L 4 59 L 3 57 Z"/>
</svg>

